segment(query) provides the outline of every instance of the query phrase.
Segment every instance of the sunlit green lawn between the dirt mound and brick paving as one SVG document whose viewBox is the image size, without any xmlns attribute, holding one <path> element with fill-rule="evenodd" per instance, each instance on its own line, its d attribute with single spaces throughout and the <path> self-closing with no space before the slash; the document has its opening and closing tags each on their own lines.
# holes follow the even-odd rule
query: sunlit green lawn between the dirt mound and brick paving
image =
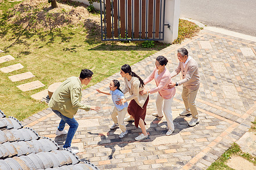
<svg viewBox="0 0 256 170">
<path fill-rule="evenodd" d="M 0 4 L 0 49 L 5 51 L 0 53 L 0 57 L 10 54 L 15 58 L 0 63 L 0 67 L 21 63 L 24 68 L 0 74 L 0 109 L 7 116 L 19 120 L 47 108 L 46 104 L 30 96 L 47 89 L 50 84 L 62 82 L 69 76 L 79 76 L 81 69 L 86 68 L 94 72 L 93 80 L 88 85 L 92 86 L 117 73 L 123 64 L 133 65 L 167 46 L 156 43 L 155 48 L 147 49 L 142 48 L 138 42 L 103 42 L 99 30 L 88 30 L 83 24 L 51 31 L 32 27 L 23 29 L 20 25 L 6 22 L 9 18 L 6 15 L 7 9 L 10 10 L 14 5 L 6 0 Z M 45 5 L 50 6 L 48 3 Z M 35 77 L 19 82 L 11 82 L 8 78 L 27 71 Z M 27 92 L 16 87 L 34 80 L 40 80 L 46 86 Z"/>
</svg>

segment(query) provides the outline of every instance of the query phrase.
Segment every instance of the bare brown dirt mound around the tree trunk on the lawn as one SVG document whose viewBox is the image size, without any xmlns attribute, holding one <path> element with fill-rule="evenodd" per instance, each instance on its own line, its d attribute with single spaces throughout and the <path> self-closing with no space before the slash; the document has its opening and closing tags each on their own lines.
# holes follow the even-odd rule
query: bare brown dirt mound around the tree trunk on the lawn
<svg viewBox="0 0 256 170">
<path fill-rule="evenodd" d="M 27 29 L 51 30 L 68 25 L 100 28 L 100 17 L 90 14 L 84 3 L 63 0 L 57 5 L 52 8 L 46 0 L 23 1 L 9 12 L 8 22 Z"/>
</svg>

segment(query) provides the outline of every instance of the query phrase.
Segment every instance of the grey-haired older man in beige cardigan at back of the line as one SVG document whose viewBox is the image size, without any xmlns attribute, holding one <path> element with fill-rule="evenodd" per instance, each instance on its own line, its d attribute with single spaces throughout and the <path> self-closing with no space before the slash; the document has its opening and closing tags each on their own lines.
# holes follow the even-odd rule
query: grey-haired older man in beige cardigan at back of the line
<svg viewBox="0 0 256 170">
<path fill-rule="evenodd" d="M 172 71 L 171 77 L 173 78 L 181 71 L 182 80 L 179 82 L 170 83 L 168 88 L 180 86 L 183 84 L 181 96 L 185 105 L 185 109 L 180 113 L 180 116 L 192 114 L 192 119 L 188 125 L 195 126 L 199 123 L 198 112 L 195 104 L 197 91 L 199 90 L 200 86 L 198 65 L 195 59 L 193 59 L 191 56 L 188 56 L 188 50 L 185 48 L 179 48 L 177 50 L 177 58 L 180 62 L 177 68 Z"/>
</svg>

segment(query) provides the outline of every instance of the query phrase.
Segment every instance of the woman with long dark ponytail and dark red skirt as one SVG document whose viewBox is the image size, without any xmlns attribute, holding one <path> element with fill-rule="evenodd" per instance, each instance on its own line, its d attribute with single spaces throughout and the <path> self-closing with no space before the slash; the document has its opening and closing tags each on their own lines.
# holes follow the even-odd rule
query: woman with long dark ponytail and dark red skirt
<svg viewBox="0 0 256 170">
<path fill-rule="evenodd" d="M 131 67 L 129 65 L 123 65 L 121 67 L 120 74 L 125 80 L 125 89 L 122 90 L 123 94 L 126 94 L 126 92 L 129 91 L 130 96 L 117 101 L 117 104 L 122 104 L 126 101 L 130 101 L 127 112 L 130 114 L 130 117 L 134 119 L 135 126 L 137 128 L 138 125 L 141 127 L 142 134 L 135 138 L 136 141 L 141 141 L 148 137 L 145 127 L 146 122 L 144 121 L 148 103 L 148 94 L 139 94 L 139 92 L 143 91 L 144 89 L 143 80 L 133 71 L 131 71 Z"/>
</svg>

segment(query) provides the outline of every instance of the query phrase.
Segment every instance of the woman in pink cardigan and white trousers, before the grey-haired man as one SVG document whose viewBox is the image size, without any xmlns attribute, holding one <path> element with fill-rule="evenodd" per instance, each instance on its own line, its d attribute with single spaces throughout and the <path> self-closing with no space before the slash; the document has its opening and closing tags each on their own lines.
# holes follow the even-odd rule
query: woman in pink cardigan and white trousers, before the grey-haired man
<svg viewBox="0 0 256 170">
<path fill-rule="evenodd" d="M 174 131 L 174 122 L 172 121 L 172 100 L 175 95 L 175 87 L 168 88 L 168 84 L 171 82 L 171 74 L 166 69 L 166 65 L 168 63 L 168 59 L 164 56 L 158 56 L 155 61 L 155 69 L 154 71 L 144 80 L 144 84 L 151 82 L 152 79 L 155 79 L 156 87 L 150 90 L 143 90 L 141 92 L 144 94 L 154 94 L 158 92 L 158 96 L 156 97 L 156 109 L 158 113 L 153 113 L 153 116 L 163 117 L 166 116 L 168 131 L 166 135 L 171 135 Z M 163 110 L 163 111 L 162 111 Z"/>
</svg>

